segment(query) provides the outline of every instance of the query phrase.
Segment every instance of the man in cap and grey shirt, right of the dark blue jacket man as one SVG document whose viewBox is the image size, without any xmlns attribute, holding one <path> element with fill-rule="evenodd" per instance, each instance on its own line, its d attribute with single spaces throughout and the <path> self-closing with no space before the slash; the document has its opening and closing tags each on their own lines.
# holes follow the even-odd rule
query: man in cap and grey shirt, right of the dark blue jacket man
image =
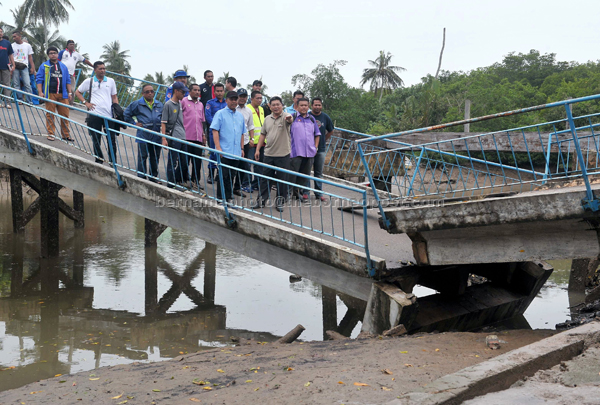
<svg viewBox="0 0 600 405">
<path fill-rule="evenodd" d="M 187 152 L 187 145 L 178 142 L 185 141 L 185 127 L 183 126 L 183 112 L 181 111 L 181 100 L 189 89 L 182 82 L 173 83 L 172 97 L 165 102 L 163 107 L 162 120 L 160 126 L 161 134 L 169 135 L 175 139 L 162 139 L 162 144 L 168 146 L 169 156 L 167 158 L 167 187 L 173 188 L 177 184 L 183 188 L 189 186 L 187 155 L 181 152 Z"/>
</svg>

